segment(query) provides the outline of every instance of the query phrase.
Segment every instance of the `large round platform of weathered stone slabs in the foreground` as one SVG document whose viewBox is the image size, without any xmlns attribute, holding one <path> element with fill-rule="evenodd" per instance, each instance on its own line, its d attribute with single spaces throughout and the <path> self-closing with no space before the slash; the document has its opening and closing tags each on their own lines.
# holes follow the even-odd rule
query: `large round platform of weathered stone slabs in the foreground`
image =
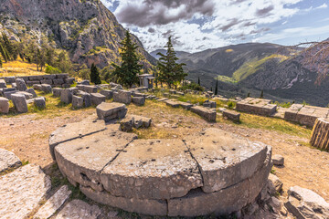
<svg viewBox="0 0 329 219">
<path fill-rule="evenodd" d="M 49 142 L 60 172 L 82 193 L 139 214 L 230 214 L 255 200 L 271 171 L 270 146 L 218 129 L 137 140 L 119 125 L 86 120 L 60 128 Z"/>
</svg>

